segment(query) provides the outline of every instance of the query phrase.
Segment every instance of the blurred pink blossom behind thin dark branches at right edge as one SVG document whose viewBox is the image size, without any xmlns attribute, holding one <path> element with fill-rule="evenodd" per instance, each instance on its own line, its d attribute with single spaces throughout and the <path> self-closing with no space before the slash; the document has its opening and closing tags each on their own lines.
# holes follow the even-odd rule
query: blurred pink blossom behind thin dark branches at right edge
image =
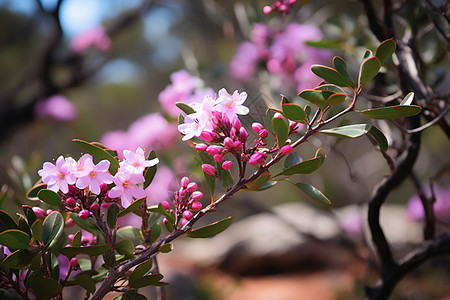
<svg viewBox="0 0 450 300">
<path fill-rule="evenodd" d="M 427 192 L 427 196 L 430 192 Z M 434 189 L 436 202 L 433 204 L 434 214 L 440 220 L 450 217 L 450 188 L 436 187 Z M 407 204 L 407 215 L 411 220 L 418 221 L 425 217 L 422 201 L 418 195 L 411 197 Z"/>
</svg>

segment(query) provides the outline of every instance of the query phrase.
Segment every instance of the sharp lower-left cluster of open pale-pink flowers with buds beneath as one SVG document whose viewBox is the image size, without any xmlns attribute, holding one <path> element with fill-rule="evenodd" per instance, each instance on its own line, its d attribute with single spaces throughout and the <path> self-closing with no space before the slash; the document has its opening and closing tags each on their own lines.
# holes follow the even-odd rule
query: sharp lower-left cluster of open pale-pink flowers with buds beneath
<svg viewBox="0 0 450 300">
<path fill-rule="evenodd" d="M 87 219 L 99 211 L 100 205 L 120 202 L 127 207 L 134 199 L 146 197 L 140 186 L 145 181 L 143 173 L 145 168 L 156 165 L 158 159 L 146 160 L 141 148 L 136 152 L 124 150 L 123 156 L 114 176 L 109 172 L 109 161 L 94 164 L 90 154 L 78 161 L 60 156 L 55 164 L 45 162 L 38 174 L 48 189 L 60 192 L 63 210 L 77 212 L 81 219 Z"/>
</svg>

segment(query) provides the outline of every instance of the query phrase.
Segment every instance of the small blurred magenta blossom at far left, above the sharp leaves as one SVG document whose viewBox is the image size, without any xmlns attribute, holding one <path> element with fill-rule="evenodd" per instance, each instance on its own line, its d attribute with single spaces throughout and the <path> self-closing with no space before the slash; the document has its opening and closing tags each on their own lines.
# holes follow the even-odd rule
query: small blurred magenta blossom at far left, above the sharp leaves
<svg viewBox="0 0 450 300">
<path fill-rule="evenodd" d="M 78 110 L 66 97 L 54 95 L 36 104 L 35 115 L 38 118 L 70 122 L 78 117 Z"/>
</svg>

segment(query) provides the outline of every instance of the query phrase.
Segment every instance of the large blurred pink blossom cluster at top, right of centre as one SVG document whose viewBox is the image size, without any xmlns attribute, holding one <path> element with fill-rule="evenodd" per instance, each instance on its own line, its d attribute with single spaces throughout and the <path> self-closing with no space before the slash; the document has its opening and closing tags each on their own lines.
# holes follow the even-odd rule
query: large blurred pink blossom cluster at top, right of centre
<svg viewBox="0 0 450 300">
<path fill-rule="evenodd" d="M 263 63 L 275 75 L 279 81 L 275 85 L 280 88 L 295 86 L 299 92 L 314 87 L 320 79 L 310 72 L 310 67 L 328 60 L 331 52 L 308 46 L 305 42 L 322 37 L 322 32 L 314 25 L 290 23 L 283 30 L 272 30 L 256 23 L 250 41 L 239 44 L 230 62 L 229 73 L 235 80 L 247 82 Z"/>
</svg>

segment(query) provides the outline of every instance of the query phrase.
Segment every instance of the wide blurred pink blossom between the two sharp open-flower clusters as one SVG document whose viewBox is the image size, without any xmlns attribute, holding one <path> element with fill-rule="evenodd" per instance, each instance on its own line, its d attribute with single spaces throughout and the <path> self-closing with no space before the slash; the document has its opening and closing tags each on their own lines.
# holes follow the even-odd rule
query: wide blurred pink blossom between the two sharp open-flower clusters
<svg viewBox="0 0 450 300">
<path fill-rule="evenodd" d="M 123 158 L 123 150 L 135 151 L 138 147 L 146 148 L 147 152 L 168 149 L 174 145 L 177 135 L 175 123 L 168 122 L 159 113 L 151 113 L 134 121 L 127 131 L 105 133 L 100 143 L 117 150 L 119 158 Z"/>
</svg>

